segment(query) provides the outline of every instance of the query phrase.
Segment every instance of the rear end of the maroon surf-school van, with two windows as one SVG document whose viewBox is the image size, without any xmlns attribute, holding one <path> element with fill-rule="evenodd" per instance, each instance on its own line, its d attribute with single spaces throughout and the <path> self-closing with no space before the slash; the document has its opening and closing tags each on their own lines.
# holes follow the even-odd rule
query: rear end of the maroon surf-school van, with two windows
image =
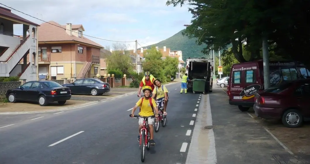
<svg viewBox="0 0 310 164">
<path fill-rule="evenodd" d="M 254 103 L 254 94 L 261 88 L 258 64 L 247 62 L 233 65 L 229 85 L 229 99 L 235 102 L 233 104 L 247 106 L 247 102 Z"/>
</svg>

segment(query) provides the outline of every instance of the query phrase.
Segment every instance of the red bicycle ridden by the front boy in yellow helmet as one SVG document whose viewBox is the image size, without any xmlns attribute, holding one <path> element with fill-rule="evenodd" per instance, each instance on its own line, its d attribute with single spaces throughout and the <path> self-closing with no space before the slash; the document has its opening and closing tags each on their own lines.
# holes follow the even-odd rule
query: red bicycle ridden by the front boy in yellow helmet
<svg viewBox="0 0 310 164">
<path fill-rule="evenodd" d="M 131 117 L 131 114 L 129 115 Z M 145 149 L 149 150 L 150 149 L 150 128 L 148 127 L 148 118 L 155 118 L 155 116 L 149 116 L 149 117 L 142 117 L 139 115 L 134 115 L 132 118 L 143 118 L 143 127 L 141 128 L 140 132 L 140 150 L 141 150 L 141 162 L 144 162 L 144 157 L 145 157 Z"/>
</svg>

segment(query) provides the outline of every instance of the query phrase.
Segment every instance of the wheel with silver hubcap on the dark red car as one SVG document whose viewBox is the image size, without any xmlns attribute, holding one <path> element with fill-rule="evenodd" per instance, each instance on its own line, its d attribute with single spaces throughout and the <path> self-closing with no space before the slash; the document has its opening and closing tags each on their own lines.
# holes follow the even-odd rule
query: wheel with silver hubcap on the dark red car
<svg viewBox="0 0 310 164">
<path fill-rule="evenodd" d="M 300 127 L 303 124 L 303 116 L 297 109 L 289 109 L 283 113 L 282 123 L 289 128 Z"/>
</svg>

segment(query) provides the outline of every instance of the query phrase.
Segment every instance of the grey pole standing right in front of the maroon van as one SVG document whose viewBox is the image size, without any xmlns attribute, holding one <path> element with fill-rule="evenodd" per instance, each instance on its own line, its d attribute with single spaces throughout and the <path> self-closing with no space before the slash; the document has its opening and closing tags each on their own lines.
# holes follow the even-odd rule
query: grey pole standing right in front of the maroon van
<svg viewBox="0 0 310 164">
<path fill-rule="evenodd" d="M 264 70 L 264 89 L 270 87 L 270 72 L 269 72 L 269 52 L 267 35 L 263 34 L 263 70 Z"/>
</svg>

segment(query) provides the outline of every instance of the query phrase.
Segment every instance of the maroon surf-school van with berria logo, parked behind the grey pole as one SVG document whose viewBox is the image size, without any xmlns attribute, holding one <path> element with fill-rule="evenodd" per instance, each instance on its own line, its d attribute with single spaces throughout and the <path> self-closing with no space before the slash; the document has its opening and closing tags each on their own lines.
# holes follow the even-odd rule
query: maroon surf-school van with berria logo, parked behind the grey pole
<svg viewBox="0 0 310 164">
<path fill-rule="evenodd" d="M 310 71 L 300 62 L 270 61 L 270 85 L 310 78 Z M 263 60 L 232 65 L 227 94 L 229 104 L 244 112 L 254 105 L 254 94 L 264 90 Z"/>
</svg>

